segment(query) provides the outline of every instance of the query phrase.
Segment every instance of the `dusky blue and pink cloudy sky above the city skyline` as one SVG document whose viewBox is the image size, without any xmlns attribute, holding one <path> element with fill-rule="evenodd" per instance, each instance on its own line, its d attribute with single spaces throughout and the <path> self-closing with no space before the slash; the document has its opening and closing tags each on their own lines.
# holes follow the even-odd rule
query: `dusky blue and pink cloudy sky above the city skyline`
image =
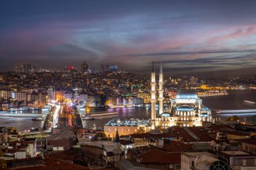
<svg viewBox="0 0 256 170">
<path fill-rule="evenodd" d="M 165 75 L 240 72 L 256 65 L 256 1 L 1 1 L 0 71 L 117 65 Z M 255 72 L 253 72 L 255 73 Z"/>
</svg>

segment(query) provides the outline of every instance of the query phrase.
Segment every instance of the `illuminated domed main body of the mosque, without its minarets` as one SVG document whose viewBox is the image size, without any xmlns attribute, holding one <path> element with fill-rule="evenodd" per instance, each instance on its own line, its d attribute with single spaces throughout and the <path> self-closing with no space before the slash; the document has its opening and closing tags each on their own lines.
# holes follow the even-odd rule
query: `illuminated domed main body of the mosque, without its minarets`
<svg viewBox="0 0 256 170">
<path fill-rule="evenodd" d="M 166 112 L 156 118 L 156 126 L 203 126 L 203 122 L 211 121 L 211 110 L 202 104 L 197 94 L 183 91 L 171 100 Z"/>
</svg>

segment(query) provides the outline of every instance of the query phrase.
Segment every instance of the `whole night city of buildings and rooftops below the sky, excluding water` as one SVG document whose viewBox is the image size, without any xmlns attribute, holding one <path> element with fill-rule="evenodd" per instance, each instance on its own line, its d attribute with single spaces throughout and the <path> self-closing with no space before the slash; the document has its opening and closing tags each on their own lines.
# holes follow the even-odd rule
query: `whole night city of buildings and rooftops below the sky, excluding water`
<svg viewBox="0 0 256 170">
<path fill-rule="evenodd" d="M 233 116 L 227 122 L 212 118 L 212 111 L 203 105 L 203 100 L 228 96 L 232 91 L 253 90 L 255 81 L 164 77 L 162 65 L 157 77 L 156 66 L 159 65 L 153 66 L 151 77 L 117 70 L 85 74 L 70 66 L 53 73 L 1 73 L 1 117 L 30 116 L 33 121 L 43 122 L 41 127 L 22 132 L 2 127 L 0 141 L 5 157 L 23 161 L 14 165 L 5 159 L 6 166 L 22 168 L 22 163 L 30 165 L 33 158 L 38 162 L 33 166 L 40 167 L 48 160 L 54 161 L 55 155 L 65 153 L 63 157 L 69 158 L 61 160 L 73 161 L 83 168 L 94 165 L 120 169 L 129 164 L 146 169 L 253 169 L 255 125 L 237 122 Z M 244 103 L 255 105 L 253 101 Z M 36 111 L 39 108 L 41 111 Z M 150 115 L 123 119 L 107 108 L 150 109 Z M 92 109 L 102 111 L 91 112 Z M 39 114 L 32 117 L 26 114 L 29 112 Z M 102 118 L 108 120 L 102 127 L 86 125 Z M 40 155 L 44 155 L 43 160 Z M 232 161 L 233 155 L 237 163 Z M 239 163 L 241 160 L 243 164 Z"/>
</svg>

